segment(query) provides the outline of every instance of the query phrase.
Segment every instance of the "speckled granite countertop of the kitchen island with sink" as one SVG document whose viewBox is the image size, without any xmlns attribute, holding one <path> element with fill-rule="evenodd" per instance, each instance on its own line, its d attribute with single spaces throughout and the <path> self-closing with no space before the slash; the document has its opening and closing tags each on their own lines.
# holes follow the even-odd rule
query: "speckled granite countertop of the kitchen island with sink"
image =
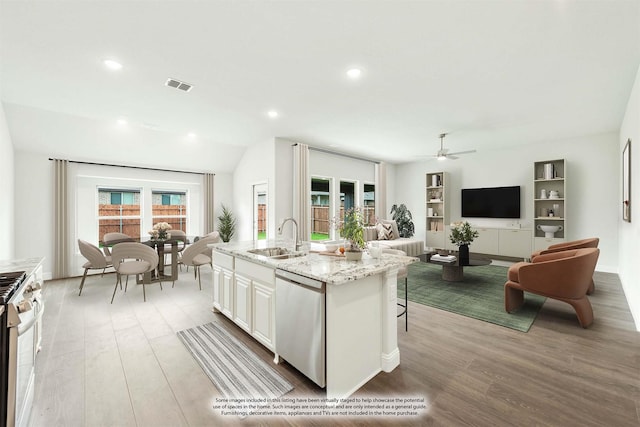
<svg viewBox="0 0 640 427">
<path fill-rule="evenodd" d="M 327 284 L 338 285 L 384 273 L 393 268 L 418 261 L 418 258 L 382 254 L 380 258 L 373 258 L 367 252 L 362 254 L 361 261 L 347 261 L 341 256 L 323 255 L 313 252 L 314 244 L 306 242 L 303 252 L 294 252 L 293 243 L 281 240 L 259 240 L 231 243 L 214 243 L 209 245 L 212 249 L 247 261 L 265 265 L 271 268 L 280 268 L 291 273 L 300 274 L 320 280 Z M 287 259 L 272 259 L 263 255 L 252 254 L 248 251 L 261 248 L 285 247 L 294 253 L 302 253 L 301 256 Z M 311 248 L 312 252 L 309 252 Z"/>
</svg>

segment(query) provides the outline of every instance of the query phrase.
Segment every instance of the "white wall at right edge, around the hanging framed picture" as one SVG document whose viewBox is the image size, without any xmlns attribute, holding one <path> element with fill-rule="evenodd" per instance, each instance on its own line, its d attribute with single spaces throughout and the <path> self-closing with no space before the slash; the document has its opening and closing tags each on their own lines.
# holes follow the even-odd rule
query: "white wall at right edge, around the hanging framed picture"
<svg viewBox="0 0 640 427">
<path fill-rule="evenodd" d="M 627 140 L 631 139 L 631 222 L 622 221 L 622 180 L 617 175 L 616 191 L 617 233 L 620 236 L 618 260 L 619 275 L 636 328 L 640 331 L 640 67 L 629 96 L 627 110 L 620 128 L 618 144 L 616 144 L 616 160 L 621 162 L 622 150 Z"/>
</svg>

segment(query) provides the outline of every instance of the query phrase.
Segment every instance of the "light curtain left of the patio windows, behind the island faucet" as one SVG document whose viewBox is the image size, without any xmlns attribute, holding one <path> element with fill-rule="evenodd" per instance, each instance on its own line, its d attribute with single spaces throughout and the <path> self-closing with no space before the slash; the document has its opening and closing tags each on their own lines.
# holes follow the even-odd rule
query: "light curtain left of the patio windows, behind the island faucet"
<svg viewBox="0 0 640 427">
<path fill-rule="evenodd" d="M 309 240 L 311 228 L 311 177 L 309 175 L 309 146 L 293 146 L 293 217 L 298 222 L 300 240 Z"/>
</svg>

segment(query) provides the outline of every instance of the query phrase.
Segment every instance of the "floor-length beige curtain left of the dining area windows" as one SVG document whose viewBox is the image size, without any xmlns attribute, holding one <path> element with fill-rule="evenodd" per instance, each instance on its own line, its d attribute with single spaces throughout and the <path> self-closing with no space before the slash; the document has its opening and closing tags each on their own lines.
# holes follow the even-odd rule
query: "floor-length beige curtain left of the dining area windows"
<svg viewBox="0 0 640 427">
<path fill-rule="evenodd" d="M 61 279 L 69 277 L 69 194 L 67 186 L 69 161 L 53 159 L 53 162 L 53 278 Z"/>
</svg>

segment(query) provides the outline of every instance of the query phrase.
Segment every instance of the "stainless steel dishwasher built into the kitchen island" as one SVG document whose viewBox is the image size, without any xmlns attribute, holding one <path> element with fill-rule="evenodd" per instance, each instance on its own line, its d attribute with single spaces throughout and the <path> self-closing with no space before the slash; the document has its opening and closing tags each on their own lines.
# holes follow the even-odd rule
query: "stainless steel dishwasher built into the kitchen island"
<svg viewBox="0 0 640 427">
<path fill-rule="evenodd" d="M 326 384 L 324 282 L 276 269 L 276 353 Z"/>
</svg>

